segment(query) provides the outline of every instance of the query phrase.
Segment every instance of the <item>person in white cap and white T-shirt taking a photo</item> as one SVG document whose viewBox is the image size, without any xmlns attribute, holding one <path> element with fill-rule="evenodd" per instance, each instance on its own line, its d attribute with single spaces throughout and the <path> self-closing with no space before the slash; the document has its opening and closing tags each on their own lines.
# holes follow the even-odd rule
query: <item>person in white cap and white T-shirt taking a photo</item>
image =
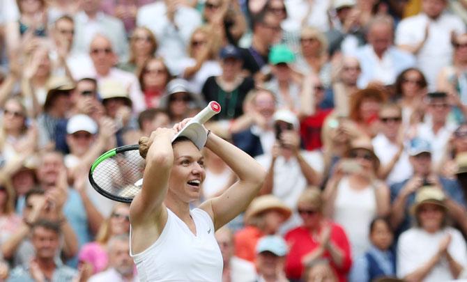
<svg viewBox="0 0 467 282">
<path fill-rule="evenodd" d="M 273 150 L 256 158 L 268 170 L 261 194 L 273 194 L 295 210 L 305 187 L 321 184 L 323 161 L 319 152 L 300 150 L 300 125 L 294 113 L 278 110 L 273 120 L 276 136 Z M 294 222 L 289 223 L 289 228 L 296 227 Z"/>
</svg>

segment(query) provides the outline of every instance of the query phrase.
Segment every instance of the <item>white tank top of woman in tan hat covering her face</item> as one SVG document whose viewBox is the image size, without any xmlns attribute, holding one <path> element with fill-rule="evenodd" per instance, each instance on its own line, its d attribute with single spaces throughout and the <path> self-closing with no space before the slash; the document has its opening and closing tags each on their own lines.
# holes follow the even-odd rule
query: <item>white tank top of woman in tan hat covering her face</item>
<svg viewBox="0 0 467 282">
<path fill-rule="evenodd" d="M 333 219 L 342 225 L 349 236 L 352 257 L 359 258 L 369 248 L 368 229 L 376 216 L 376 196 L 372 187 L 355 190 L 349 178 L 344 177 L 337 186 Z"/>
</svg>

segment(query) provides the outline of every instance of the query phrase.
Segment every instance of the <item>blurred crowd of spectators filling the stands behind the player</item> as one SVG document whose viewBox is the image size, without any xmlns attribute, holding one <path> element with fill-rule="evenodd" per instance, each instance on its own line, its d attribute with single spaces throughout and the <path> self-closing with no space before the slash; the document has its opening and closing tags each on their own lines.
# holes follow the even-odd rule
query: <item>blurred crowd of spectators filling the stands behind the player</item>
<svg viewBox="0 0 467 282">
<path fill-rule="evenodd" d="M 89 167 L 211 100 L 267 171 L 217 230 L 222 281 L 467 279 L 466 23 L 466 0 L 0 0 L 0 281 L 139 281 Z M 204 155 L 200 202 L 236 182 Z"/>
</svg>

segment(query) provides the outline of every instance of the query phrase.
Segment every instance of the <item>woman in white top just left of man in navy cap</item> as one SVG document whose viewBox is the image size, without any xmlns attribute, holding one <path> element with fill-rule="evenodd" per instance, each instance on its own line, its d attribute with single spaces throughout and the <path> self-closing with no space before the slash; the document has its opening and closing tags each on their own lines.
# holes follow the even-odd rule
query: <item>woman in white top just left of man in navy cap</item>
<svg viewBox="0 0 467 282">
<path fill-rule="evenodd" d="M 215 0 L 213 0 L 215 1 Z M 227 1 L 224 1 L 227 3 Z M 207 5 L 207 4 L 206 4 Z M 220 29 L 220 26 L 216 26 Z M 212 30 L 208 26 L 200 26 L 193 31 L 188 45 L 188 56 L 182 65 L 181 77 L 187 79 L 190 91 L 201 93 L 208 77 L 222 74 L 220 64 L 216 61 L 220 46 L 217 46 Z"/>
</svg>

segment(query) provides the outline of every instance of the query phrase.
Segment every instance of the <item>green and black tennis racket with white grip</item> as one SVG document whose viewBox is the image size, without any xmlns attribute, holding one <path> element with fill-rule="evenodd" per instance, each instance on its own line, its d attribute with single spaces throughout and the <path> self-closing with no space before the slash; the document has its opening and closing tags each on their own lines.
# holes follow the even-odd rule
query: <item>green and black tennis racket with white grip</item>
<svg viewBox="0 0 467 282">
<path fill-rule="evenodd" d="M 208 138 L 203 123 L 219 112 L 220 104 L 210 102 L 174 136 L 172 142 L 185 136 L 201 150 Z M 131 203 L 141 190 L 145 164 L 146 160 L 140 155 L 139 145 L 114 148 L 95 159 L 89 169 L 89 182 L 102 196 L 122 203 Z"/>
</svg>

